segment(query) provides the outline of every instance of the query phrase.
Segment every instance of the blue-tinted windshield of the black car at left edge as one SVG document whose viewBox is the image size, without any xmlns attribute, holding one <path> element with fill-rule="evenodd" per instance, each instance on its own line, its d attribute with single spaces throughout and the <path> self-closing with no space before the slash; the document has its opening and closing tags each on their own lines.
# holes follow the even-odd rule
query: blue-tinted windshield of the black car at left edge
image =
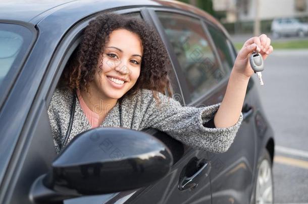
<svg viewBox="0 0 308 204">
<path fill-rule="evenodd" d="M 32 32 L 26 27 L 0 23 L 0 97 L 4 97 L 8 84 L 18 72 L 32 38 Z"/>
</svg>

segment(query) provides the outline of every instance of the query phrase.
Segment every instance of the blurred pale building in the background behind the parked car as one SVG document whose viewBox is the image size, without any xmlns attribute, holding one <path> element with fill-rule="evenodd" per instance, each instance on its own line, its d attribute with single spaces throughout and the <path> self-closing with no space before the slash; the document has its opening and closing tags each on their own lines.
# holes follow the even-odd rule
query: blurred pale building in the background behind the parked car
<svg viewBox="0 0 308 204">
<path fill-rule="evenodd" d="M 259 15 L 256 5 L 259 4 Z M 216 17 L 230 33 L 252 33 L 260 20 L 262 32 L 270 32 L 273 19 L 295 17 L 308 21 L 308 0 L 215 0 Z M 259 18 L 258 18 L 259 17 Z"/>
</svg>

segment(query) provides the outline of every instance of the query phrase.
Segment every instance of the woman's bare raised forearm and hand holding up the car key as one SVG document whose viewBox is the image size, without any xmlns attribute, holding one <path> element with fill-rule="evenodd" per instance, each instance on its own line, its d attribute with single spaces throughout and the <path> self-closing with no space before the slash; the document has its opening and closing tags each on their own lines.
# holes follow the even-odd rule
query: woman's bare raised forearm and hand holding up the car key
<svg viewBox="0 0 308 204">
<path fill-rule="evenodd" d="M 273 47 L 270 43 L 271 39 L 265 34 L 252 37 L 244 43 L 236 57 L 226 94 L 215 114 L 214 123 L 216 127 L 229 127 L 238 121 L 249 78 L 254 74 L 249 63 L 249 56 L 253 50 L 258 49 L 263 59 L 266 59 L 273 52 Z"/>
</svg>

